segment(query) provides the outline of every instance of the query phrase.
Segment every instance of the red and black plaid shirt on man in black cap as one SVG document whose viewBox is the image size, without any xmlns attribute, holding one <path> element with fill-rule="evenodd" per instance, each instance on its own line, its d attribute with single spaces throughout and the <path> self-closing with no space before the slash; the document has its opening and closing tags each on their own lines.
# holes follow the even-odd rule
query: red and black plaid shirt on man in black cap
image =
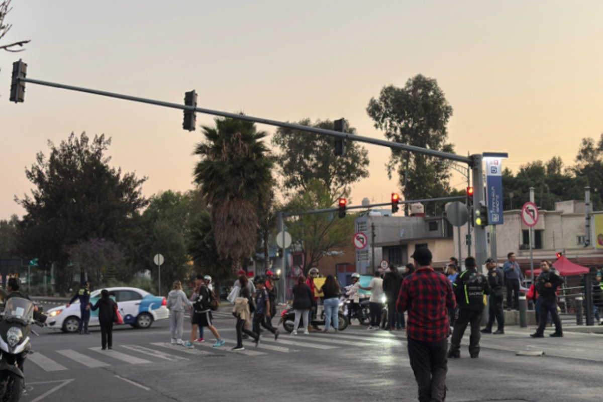
<svg viewBox="0 0 603 402">
<path fill-rule="evenodd" d="M 431 267 L 421 267 L 404 278 L 396 304 L 408 310 L 406 334 L 417 341 L 437 342 L 448 336 L 448 309 L 456 307 L 452 284 Z"/>
</svg>

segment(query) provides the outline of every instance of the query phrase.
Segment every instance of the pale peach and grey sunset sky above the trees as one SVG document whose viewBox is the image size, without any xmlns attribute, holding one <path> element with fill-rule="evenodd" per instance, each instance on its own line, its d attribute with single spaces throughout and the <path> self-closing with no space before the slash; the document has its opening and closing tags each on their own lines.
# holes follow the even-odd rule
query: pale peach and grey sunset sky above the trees
<svg viewBox="0 0 603 402">
<path fill-rule="evenodd" d="M 0 219 L 24 210 L 25 168 L 70 133 L 112 137 L 112 166 L 148 177 L 145 196 L 191 189 L 201 131 L 182 111 L 27 84 L 8 101 L 13 61 L 28 78 L 183 103 L 278 121 L 346 118 L 384 138 L 366 113 L 382 87 L 435 78 L 453 107 L 455 152 L 508 152 L 516 171 L 603 133 L 603 2 L 13 0 L 0 42 Z M 197 115 L 198 124 L 213 117 Z M 275 128 L 260 126 L 274 133 Z M 268 137 L 270 140 L 270 136 Z M 365 145 L 370 177 L 350 202 L 388 202 L 387 148 Z M 450 183 L 464 188 L 458 174 Z M 526 200 L 528 201 L 528 200 Z"/>
</svg>

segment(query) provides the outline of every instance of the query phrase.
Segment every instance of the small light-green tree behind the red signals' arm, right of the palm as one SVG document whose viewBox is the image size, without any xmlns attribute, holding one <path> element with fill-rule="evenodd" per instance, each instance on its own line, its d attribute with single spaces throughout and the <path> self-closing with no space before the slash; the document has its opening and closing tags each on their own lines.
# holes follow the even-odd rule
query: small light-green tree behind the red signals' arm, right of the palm
<svg viewBox="0 0 603 402">
<path fill-rule="evenodd" d="M 330 191 L 320 180 L 311 180 L 308 190 L 289 201 L 286 210 L 291 212 L 326 209 L 333 207 Z M 324 253 L 337 247 L 345 247 L 354 234 L 354 218 L 347 215 L 340 219 L 337 212 L 297 216 L 287 222 L 292 244 L 301 247 L 305 255 L 304 272 L 316 266 Z"/>
</svg>

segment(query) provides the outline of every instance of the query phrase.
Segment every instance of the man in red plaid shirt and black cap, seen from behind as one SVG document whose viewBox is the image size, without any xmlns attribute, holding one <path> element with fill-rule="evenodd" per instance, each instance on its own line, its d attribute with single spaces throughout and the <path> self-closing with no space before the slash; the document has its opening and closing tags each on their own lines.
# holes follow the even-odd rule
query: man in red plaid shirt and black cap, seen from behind
<svg viewBox="0 0 603 402">
<path fill-rule="evenodd" d="M 446 400 L 448 309 L 456 307 L 450 281 L 431 268 L 431 251 L 417 248 L 411 256 L 415 271 L 400 287 L 396 310 L 408 310 L 408 357 L 418 383 L 419 402 Z"/>
</svg>

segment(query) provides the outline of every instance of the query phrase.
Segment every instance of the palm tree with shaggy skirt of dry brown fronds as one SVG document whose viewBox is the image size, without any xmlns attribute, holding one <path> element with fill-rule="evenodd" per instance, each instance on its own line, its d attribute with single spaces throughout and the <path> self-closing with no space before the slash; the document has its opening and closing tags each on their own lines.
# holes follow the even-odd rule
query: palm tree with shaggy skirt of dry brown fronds
<svg viewBox="0 0 603 402">
<path fill-rule="evenodd" d="M 202 126 L 206 141 L 197 144 L 195 182 L 209 206 L 213 237 L 222 259 L 238 268 L 257 242 L 257 206 L 265 205 L 273 178 L 273 159 L 263 141 L 267 134 L 253 122 L 215 119 Z"/>
</svg>

